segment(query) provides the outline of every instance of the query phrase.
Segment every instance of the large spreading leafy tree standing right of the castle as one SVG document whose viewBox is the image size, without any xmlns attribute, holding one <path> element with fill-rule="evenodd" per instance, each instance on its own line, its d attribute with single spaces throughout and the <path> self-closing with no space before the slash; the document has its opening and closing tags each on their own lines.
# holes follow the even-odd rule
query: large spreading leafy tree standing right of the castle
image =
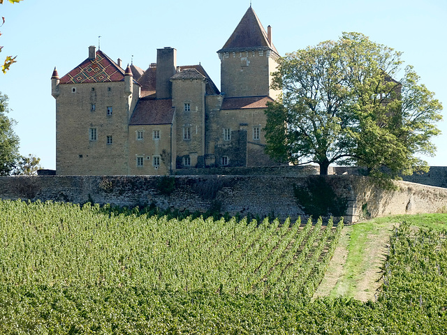
<svg viewBox="0 0 447 335">
<path fill-rule="evenodd" d="M 272 82 L 283 96 L 266 110 L 266 151 L 318 163 L 321 174 L 332 163 L 377 175 L 386 167 L 392 177 L 427 170 L 417 155 L 434 154 L 442 106 L 402 64 L 400 52 L 358 33 L 286 54 Z"/>
</svg>

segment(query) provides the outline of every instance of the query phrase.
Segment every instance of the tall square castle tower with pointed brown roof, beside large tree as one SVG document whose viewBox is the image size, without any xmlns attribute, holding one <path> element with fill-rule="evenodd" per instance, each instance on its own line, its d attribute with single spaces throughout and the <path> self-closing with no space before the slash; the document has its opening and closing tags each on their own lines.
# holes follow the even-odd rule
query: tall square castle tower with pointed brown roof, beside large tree
<svg viewBox="0 0 447 335">
<path fill-rule="evenodd" d="M 217 52 L 221 59 L 221 92 L 226 97 L 270 96 L 272 72 L 279 54 L 272 43 L 272 29 L 265 31 L 253 8 L 249 8 L 233 34 Z"/>
</svg>

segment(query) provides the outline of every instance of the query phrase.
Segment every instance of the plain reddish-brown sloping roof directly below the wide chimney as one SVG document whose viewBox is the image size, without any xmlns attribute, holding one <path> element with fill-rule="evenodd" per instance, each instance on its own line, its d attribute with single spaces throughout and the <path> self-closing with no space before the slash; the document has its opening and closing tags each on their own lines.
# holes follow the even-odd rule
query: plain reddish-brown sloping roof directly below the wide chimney
<svg viewBox="0 0 447 335">
<path fill-rule="evenodd" d="M 133 111 L 129 126 L 172 124 L 174 111 L 171 99 L 140 99 Z"/>
</svg>

